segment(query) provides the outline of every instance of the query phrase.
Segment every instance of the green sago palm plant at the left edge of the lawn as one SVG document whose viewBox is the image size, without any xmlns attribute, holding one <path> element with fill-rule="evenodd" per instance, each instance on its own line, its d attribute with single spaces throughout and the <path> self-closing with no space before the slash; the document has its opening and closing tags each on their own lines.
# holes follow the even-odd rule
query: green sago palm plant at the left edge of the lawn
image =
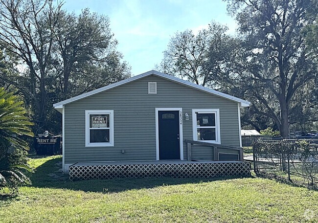
<svg viewBox="0 0 318 223">
<path fill-rule="evenodd" d="M 28 144 L 21 136 L 33 136 L 29 118 L 24 116 L 23 101 L 13 93 L 0 88 L 0 189 L 30 183 L 25 171 L 32 171 L 27 165 L 24 150 Z"/>
</svg>

